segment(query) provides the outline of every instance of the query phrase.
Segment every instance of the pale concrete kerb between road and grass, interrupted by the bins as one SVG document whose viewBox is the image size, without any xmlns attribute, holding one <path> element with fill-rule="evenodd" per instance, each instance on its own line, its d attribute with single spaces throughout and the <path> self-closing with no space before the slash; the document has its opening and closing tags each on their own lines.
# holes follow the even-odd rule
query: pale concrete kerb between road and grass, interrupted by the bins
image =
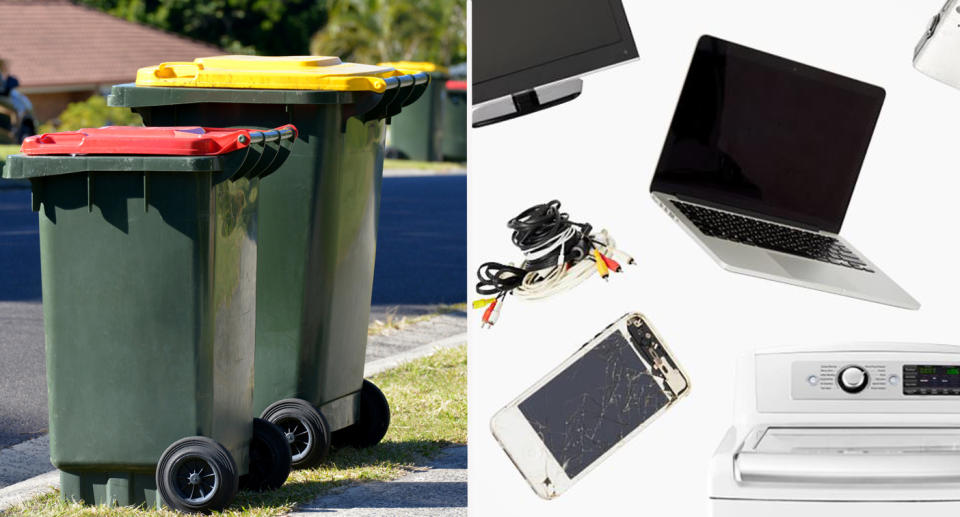
<svg viewBox="0 0 960 517">
<path fill-rule="evenodd" d="M 466 344 L 467 334 L 458 334 L 456 336 L 451 336 L 448 338 L 440 339 L 432 343 L 402 352 L 400 354 L 392 355 L 390 357 L 385 357 L 383 359 L 377 359 L 371 361 L 364 366 L 363 375 L 364 377 L 370 377 L 378 373 L 384 372 L 386 370 L 396 368 L 403 363 L 413 361 L 414 359 L 419 359 L 421 357 L 426 357 L 438 350 L 445 348 L 453 348 Z M 0 451 L 0 459 L 3 459 L 3 454 L 20 454 L 21 450 L 30 449 L 31 451 L 35 449 L 39 444 L 46 445 L 48 444 L 49 438 L 44 435 L 39 438 L 34 438 L 27 442 L 17 444 L 9 449 L 3 449 Z M 8 452 L 10 451 L 10 452 Z M 45 452 L 43 455 L 42 462 L 49 462 L 48 452 Z M 42 462 L 38 462 L 36 465 L 40 465 Z M 47 463 L 49 466 L 49 463 Z M 30 468 L 30 467 L 27 467 Z M 36 468 L 34 466 L 33 468 Z M 38 495 L 49 492 L 60 486 L 60 475 L 54 470 L 41 474 L 36 477 L 21 481 L 19 483 L 12 484 L 5 488 L 0 488 L 0 513 L 9 509 L 12 506 L 29 500 Z"/>
</svg>

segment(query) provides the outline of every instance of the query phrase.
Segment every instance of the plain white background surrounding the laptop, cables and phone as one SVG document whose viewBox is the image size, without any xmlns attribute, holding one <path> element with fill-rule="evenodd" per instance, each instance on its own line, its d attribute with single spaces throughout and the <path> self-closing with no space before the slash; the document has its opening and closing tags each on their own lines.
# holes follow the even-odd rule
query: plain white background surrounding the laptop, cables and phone
<svg viewBox="0 0 960 517">
<path fill-rule="evenodd" d="M 471 515 L 706 515 L 707 466 L 732 419 L 739 354 L 863 340 L 960 344 L 960 91 L 911 62 L 943 1 L 624 3 L 639 61 L 587 76 L 571 103 L 470 130 L 471 280 L 483 261 L 519 261 L 506 221 L 553 198 L 638 260 L 609 283 L 595 277 L 544 302 L 509 299 L 492 330 L 471 314 Z M 653 203 L 650 178 L 702 34 L 886 88 L 843 234 L 920 311 L 725 272 Z M 657 326 L 693 389 L 569 492 L 542 501 L 494 441 L 490 417 L 629 311 Z"/>
</svg>

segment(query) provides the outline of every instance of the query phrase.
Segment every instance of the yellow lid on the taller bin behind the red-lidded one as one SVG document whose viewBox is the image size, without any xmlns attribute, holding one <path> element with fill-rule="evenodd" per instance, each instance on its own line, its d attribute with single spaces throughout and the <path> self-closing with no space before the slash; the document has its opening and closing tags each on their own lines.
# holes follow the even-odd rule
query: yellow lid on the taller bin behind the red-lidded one
<svg viewBox="0 0 960 517">
<path fill-rule="evenodd" d="M 137 70 L 137 86 L 266 90 L 386 90 L 393 67 L 344 63 L 331 56 L 213 56 Z"/>
</svg>

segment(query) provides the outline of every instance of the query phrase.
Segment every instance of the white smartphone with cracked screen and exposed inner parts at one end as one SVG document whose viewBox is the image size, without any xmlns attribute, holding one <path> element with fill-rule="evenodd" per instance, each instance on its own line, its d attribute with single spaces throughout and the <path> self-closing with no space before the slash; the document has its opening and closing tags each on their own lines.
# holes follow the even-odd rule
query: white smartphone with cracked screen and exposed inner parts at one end
<svg viewBox="0 0 960 517">
<path fill-rule="evenodd" d="M 690 391 L 642 314 L 627 314 L 494 415 L 493 436 L 552 499 Z"/>
</svg>

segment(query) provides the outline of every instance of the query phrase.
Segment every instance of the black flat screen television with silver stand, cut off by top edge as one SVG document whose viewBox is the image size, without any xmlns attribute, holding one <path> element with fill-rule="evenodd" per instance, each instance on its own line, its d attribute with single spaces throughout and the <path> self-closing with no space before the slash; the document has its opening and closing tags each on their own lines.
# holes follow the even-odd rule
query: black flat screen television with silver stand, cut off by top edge
<svg viewBox="0 0 960 517">
<path fill-rule="evenodd" d="M 473 126 L 576 98 L 580 76 L 638 57 L 620 0 L 473 0 Z"/>
</svg>

